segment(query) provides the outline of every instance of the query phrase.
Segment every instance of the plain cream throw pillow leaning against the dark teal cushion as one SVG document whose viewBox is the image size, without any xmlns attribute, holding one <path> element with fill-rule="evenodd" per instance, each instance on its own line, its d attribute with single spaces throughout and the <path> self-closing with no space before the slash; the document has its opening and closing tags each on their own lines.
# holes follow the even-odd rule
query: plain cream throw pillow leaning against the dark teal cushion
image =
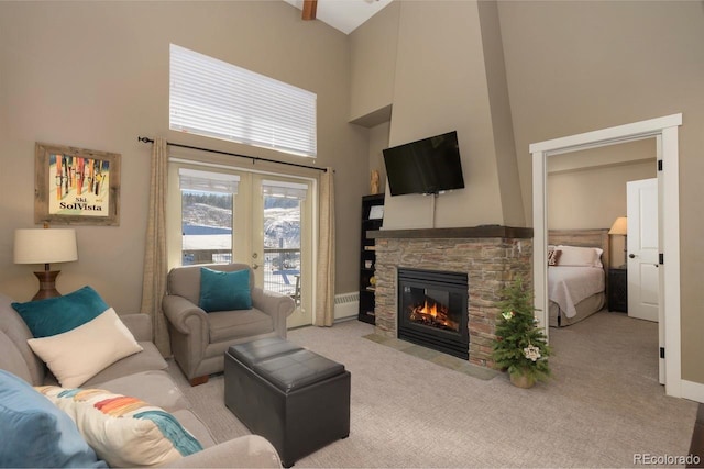
<svg viewBox="0 0 704 469">
<path fill-rule="evenodd" d="M 142 351 L 112 308 L 63 334 L 28 339 L 64 388 L 76 388 L 121 358 Z"/>
</svg>

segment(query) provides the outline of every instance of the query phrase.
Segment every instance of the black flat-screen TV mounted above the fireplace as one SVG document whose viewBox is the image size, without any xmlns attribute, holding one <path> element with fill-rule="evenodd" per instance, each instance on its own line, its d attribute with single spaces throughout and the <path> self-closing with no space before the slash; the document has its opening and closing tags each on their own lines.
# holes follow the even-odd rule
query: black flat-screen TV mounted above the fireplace
<svg viewBox="0 0 704 469">
<path fill-rule="evenodd" d="M 392 196 L 463 189 L 457 131 L 383 150 Z"/>
</svg>

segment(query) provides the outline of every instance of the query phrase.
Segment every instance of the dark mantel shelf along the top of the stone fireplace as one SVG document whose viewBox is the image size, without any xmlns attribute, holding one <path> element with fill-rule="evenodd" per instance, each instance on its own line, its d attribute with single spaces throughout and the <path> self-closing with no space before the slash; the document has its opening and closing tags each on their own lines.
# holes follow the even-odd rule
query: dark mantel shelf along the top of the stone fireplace
<svg viewBox="0 0 704 469">
<path fill-rule="evenodd" d="M 375 230 L 366 233 L 374 239 L 457 239 L 457 238 L 532 238 L 532 228 L 480 225 L 457 228 Z"/>
</svg>

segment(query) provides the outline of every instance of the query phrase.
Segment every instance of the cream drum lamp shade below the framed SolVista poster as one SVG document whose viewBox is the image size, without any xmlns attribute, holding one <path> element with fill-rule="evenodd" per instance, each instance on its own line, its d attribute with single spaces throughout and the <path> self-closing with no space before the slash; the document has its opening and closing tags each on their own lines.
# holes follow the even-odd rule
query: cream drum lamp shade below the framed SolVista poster
<svg viewBox="0 0 704 469">
<path fill-rule="evenodd" d="M 53 264 L 78 260 L 76 230 L 14 231 L 14 264 Z"/>
</svg>

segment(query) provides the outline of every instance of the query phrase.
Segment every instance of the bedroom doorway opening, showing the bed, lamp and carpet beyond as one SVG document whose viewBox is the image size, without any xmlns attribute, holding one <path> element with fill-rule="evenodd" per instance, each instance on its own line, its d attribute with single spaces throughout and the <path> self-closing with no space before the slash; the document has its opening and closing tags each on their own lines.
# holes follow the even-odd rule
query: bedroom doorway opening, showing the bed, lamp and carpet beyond
<svg viewBox="0 0 704 469">
<path fill-rule="evenodd" d="M 637 276 L 630 275 L 626 264 L 636 259 L 628 258 L 626 248 L 632 255 L 641 243 L 626 232 L 615 234 L 620 230 L 614 225 L 627 220 L 628 231 L 635 227 L 637 216 L 630 213 L 634 203 L 628 188 L 642 180 L 656 182 L 654 203 L 647 212 L 657 215 L 656 144 L 649 138 L 550 156 L 547 161 L 548 245 L 558 246 L 553 252 L 559 253 L 552 256 L 556 266 L 548 267 L 551 345 L 556 355 L 575 361 L 585 350 L 607 355 L 609 361 L 623 366 L 622 379 L 628 386 L 642 377 L 647 383 L 659 377 L 658 308 L 656 301 L 651 324 L 632 317 L 635 304 L 628 302 L 628 289 L 638 290 L 634 288 Z M 657 217 L 654 222 L 648 237 L 654 237 L 657 245 Z M 580 265 L 576 254 L 590 248 L 603 250 L 601 265 Z M 591 259 L 584 260 L 588 264 Z M 659 269 L 652 264 L 645 267 L 646 280 L 656 276 L 657 297 Z M 613 378 L 607 371 L 603 376 Z"/>
</svg>

